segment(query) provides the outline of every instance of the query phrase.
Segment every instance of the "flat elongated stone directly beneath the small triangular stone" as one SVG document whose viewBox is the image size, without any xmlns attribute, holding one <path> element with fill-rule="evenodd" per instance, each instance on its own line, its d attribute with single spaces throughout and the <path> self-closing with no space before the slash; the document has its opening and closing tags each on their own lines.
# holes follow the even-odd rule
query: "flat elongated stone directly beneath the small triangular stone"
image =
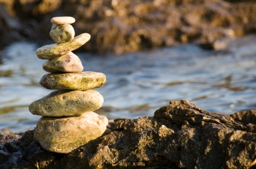
<svg viewBox="0 0 256 169">
<path fill-rule="evenodd" d="M 103 73 L 84 71 L 81 73 L 45 74 L 40 84 L 46 89 L 88 90 L 101 87 L 106 82 Z"/>
</svg>

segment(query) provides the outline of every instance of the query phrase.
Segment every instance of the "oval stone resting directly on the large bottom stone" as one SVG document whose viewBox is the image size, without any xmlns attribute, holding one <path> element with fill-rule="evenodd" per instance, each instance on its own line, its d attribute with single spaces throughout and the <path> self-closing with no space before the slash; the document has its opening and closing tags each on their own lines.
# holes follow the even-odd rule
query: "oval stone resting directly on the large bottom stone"
<svg viewBox="0 0 256 169">
<path fill-rule="evenodd" d="M 103 101 L 103 96 L 95 90 L 55 90 L 32 102 L 28 108 L 39 116 L 79 116 L 99 109 Z"/>
</svg>

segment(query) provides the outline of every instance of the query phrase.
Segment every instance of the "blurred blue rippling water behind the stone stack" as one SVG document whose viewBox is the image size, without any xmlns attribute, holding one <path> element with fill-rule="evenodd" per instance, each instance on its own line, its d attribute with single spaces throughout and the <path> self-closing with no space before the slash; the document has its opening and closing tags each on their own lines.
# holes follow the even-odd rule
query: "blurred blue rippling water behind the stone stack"
<svg viewBox="0 0 256 169">
<path fill-rule="evenodd" d="M 256 37 L 227 40 L 226 50 L 202 50 L 195 44 L 146 50 L 122 56 L 76 53 L 84 71 L 102 72 L 107 82 L 98 90 L 104 105 L 96 111 L 108 119 L 154 116 L 171 100 L 187 99 L 222 113 L 256 109 Z M 0 129 L 34 129 L 40 116 L 28 105 L 48 95 L 39 85 L 46 74 L 37 46 L 15 43 L 1 52 Z"/>
</svg>

